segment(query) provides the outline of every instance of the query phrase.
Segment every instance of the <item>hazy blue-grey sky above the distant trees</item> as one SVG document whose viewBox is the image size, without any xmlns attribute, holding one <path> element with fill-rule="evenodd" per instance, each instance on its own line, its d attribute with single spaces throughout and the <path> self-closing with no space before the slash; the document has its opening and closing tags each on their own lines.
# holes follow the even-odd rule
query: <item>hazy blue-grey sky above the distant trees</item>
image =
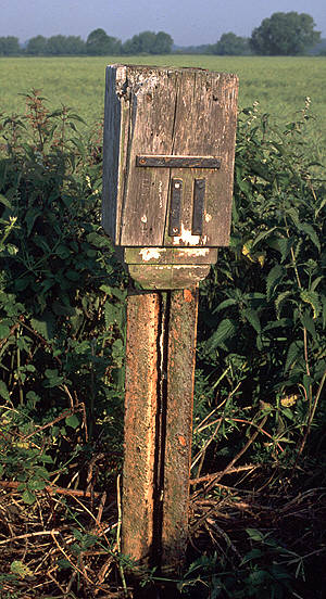
<svg viewBox="0 0 326 599">
<path fill-rule="evenodd" d="M 249 37 L 274 12 L 309 13 L 326 37 L 325 0 L 0 0 L 0 36 L 22 42 L 36 35 L 87 38 L 102 27 L 125 41 L 150 29 L 177 46 L 214 43 L 222 34 Z"/>
</svg>

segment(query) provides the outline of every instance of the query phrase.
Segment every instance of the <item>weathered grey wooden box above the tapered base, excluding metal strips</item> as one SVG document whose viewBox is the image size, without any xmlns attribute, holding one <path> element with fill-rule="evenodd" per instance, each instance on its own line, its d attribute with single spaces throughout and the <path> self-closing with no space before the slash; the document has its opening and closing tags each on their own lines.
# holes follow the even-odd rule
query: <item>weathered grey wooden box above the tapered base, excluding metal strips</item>
<svg viewBox="0 0 326 599">
<path fill-rule="evenodd" d="M 237 77 L 226 73 L 108 67 L 103 227 L 116 245 L 216 247 L 228 243 L 237 89 Z M 148 156 L 165 156 L 171 162 L 140 168 L 137 156 L 146 161 Z M 208 165 L 200 168 L 200 157 L 221 160 L 220 169 Z M 176 168 L 178 160 L 188 160 L 187 167 Z M 176 235 L 168 234 L 172 178 L 183 179 Z M 202 231 L 196 234 L 193 186 L 202 178 Z"/>
</svg>

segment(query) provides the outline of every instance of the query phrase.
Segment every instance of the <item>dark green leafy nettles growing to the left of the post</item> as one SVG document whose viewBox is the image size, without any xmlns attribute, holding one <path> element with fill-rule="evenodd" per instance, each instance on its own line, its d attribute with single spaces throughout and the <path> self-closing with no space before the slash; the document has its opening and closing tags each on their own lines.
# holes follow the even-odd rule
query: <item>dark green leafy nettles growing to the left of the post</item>
<svg viewBox="0 0 326 599">
<path fill-rule="evenodd" d="M 22 482 L 100 425 L 121 446 L 125 276 L 99 226 L 101 125 L 80 122 L 36 90 L 0 122 L 1 463 Z"/>
</svg>

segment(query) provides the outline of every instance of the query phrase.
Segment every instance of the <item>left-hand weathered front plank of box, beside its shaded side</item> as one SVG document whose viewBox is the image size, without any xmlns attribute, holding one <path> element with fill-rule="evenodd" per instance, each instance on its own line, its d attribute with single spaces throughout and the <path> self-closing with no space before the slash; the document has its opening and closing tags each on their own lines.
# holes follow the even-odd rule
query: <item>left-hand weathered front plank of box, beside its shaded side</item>
<svg viewBox="0 0 326 599">
<path fill-rule="evenodd" d="M 136 156 L 170 154 L 175 110 L 175 74 L 128 66 L 128 161 L 123 197 L 122 245 L 162 245 L 170 169 L 137 169 Z"/>
</svg>

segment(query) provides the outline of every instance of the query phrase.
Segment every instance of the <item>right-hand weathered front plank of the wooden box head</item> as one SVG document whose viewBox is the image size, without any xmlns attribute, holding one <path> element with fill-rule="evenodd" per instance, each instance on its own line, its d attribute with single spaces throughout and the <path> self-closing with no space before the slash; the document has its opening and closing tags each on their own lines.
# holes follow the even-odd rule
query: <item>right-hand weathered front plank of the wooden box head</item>
<svg viewBox="0 0 326 599">
<path fill-rule="evenodd" d="M 175 245 L 227 245 L 229 240 L 238 78 L 227 73 L 195 69 L 179 74 L 173 153 L 221 157 L 218 171 L 172 169 L 184 178 L 183 233 Z M 205 206 L 202 234 L 192 234 L 192 186 L 204 177 Z"/>
</svg>

